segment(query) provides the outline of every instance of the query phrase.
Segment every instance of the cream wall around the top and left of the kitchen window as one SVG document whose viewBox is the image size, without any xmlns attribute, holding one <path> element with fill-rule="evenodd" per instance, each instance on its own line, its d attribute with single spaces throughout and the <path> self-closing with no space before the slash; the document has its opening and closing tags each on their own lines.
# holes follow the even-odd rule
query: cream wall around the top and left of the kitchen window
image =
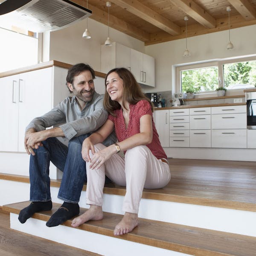
<svg viewBox="0 0 256 256">
<path fill-rule="evenodd" d="M 156 67 L 156 87 L 147 92 L 172 90 L 173 65 L 256 54 L 256 25 L 232 29 L 230 33 L 232 50 L 226 49 L 227 30 L 188 38 L 189 57 L 182 56 L 185 39 L 146 46 L 145 53 L 155 58 Z"/>
</svg>

